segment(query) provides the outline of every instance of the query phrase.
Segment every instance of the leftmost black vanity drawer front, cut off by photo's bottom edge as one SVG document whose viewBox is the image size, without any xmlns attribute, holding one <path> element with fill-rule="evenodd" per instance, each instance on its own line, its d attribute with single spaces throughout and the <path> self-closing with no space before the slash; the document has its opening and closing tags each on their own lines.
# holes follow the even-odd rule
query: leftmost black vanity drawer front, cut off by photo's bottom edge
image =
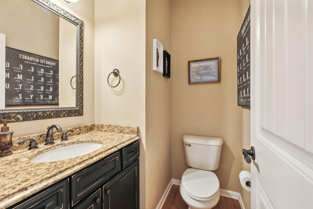
<svg viewBox="0 0 313 209">
<path fill-rule="evenodd" d="M 43 190 L 12 209 L 68 209 L 68 179 Z"/>
</svg>

